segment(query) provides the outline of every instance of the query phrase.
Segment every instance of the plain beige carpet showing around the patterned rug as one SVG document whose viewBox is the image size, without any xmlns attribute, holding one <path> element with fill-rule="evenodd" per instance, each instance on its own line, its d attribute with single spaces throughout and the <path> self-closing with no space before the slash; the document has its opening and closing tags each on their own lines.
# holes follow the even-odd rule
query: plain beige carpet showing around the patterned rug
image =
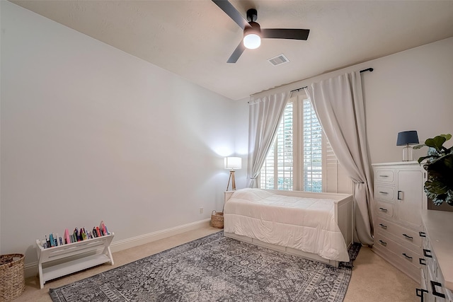
<svg viewBox="0 0 453 302">
<path fill-rule="evenodd" d="M 128 262 L 173 248 L 177 245 L 207 236 L 219 231 L 218 228 L 206 226 L 195 231 L 182 233 L 170 238 L 154 241 L 137 248 L 122 250 L 113 253 L 115 265 L 101 265 L 88 269 L 84 272 L 71 274 L 67 277 L 47 281 L 44 289 L 40 289 L 38 277 L 25 280 L 25 293 L 15 301 L 49 301 L 49 289 L 69 284 L 79 279 L 93 276 L 113 267 L 125 265 Z M 345 302 L 414 302 L 419 301 L 415 296 L 415 287 L 418 284 L 402 272 L 395 269 L 389 263 L 382 260 L 371 249 L 362 247 L 354 262 L 352 277 L 345 296 Z"/>
</svg>

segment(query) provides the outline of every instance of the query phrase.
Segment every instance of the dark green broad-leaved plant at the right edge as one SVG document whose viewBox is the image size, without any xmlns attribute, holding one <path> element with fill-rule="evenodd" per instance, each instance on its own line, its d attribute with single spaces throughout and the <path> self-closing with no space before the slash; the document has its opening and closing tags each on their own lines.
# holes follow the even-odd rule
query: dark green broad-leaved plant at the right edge
<svg viewBox="0 0 453 302">
<path fill-rule="evenodd" d="M 428 180 L 425 182 L 426 196 L 440 206 L 447 202 L 453 206 L 453 146 L 446 148 L 445 141 L 452 138 L 452 134 L 440 134 L 432 139 L 427 139 L 425 144 L 414 146 L 420 149 L 428 146 L 428 156 L 418 158 L 418 163 L 423 163 L 423 168 L 428 171 Z"/>
</svg>

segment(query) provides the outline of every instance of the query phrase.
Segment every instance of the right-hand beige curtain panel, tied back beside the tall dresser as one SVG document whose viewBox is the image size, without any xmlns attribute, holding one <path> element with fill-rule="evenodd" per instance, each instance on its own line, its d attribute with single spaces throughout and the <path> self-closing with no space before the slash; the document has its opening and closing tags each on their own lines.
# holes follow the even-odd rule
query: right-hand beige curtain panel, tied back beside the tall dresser
<svg viewBox="0 0 453 302">
<path fill-rule="evenodd" d="M 360 71 L 305 88 L 338 162 L 355 184 L 354 241 L 372 245 L 373 185 Z"/>
</svg>

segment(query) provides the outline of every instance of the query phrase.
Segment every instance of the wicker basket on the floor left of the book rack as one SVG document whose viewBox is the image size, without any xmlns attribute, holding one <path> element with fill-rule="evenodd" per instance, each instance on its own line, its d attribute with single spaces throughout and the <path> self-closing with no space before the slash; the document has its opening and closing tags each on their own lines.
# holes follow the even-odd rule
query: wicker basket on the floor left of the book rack
<svg viewBox="0 0 453 302">
<path fill-rule="evenodd" d="M 22 254 L 0 256 L 0 302 L 12 301 L 25 291 L 24 259 Z"/>
</svg>

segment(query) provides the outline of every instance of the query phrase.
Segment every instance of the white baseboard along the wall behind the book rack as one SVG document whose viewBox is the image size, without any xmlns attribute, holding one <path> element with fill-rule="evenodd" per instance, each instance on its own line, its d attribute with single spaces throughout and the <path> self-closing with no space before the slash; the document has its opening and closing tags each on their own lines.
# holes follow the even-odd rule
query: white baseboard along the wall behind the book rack
<svg viewBox="0 0 453 302">
<path fill-rule="evenodd" d="M 120 252 L 120 250 L 127 250 L 128 248 L 134 248 L 139 245 L 144 245 L 151 243 L 156 240 L 161 240 L 171 236 L 178 235 L 180 233 L 185 233 L 188 231 L 193 231 L 197 228 L 202 228 L 203 226 L 209 226 L 211 219 L 204 219 L 200 221 L 195 221 L 192 223 L 183 224 L 182 226 L 175 226 L 173 228 L 167 228 L 162 231 L 156 231 L 153 233 L 148 233 L 140 236 L 135 236 L 132 238 L 127 238 L 125 240 L 119 240 L 110 245 L 110 250 L 112 252 Z M 113 255 L 115 260 L 115 255 Z M 23 267 L 25 278 L 35 277 L 38 274 L 38 262 L 27 263 Z"/>
</svg>

